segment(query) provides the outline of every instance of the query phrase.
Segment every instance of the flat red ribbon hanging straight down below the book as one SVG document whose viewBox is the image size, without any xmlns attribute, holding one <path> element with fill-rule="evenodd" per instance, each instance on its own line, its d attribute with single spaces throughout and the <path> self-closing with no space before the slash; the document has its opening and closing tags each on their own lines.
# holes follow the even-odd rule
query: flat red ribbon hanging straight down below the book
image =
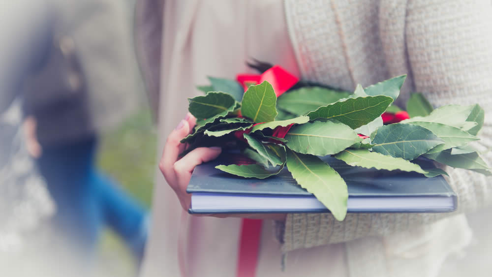
<svg viewBox="0 0 492 277">
<path fill-rule="evenodd" d="M 236 277 L 255 277 L 263 220 L 243 218 Z"/>
</svg>

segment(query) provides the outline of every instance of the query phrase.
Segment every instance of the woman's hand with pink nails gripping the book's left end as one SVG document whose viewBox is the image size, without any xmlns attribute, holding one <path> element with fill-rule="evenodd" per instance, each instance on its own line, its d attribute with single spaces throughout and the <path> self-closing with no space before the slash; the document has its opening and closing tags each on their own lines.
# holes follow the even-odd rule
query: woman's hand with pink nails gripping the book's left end
<svg viewBox="0 0 492 277">
<path fill-rule="evenodd" d="M 159 163 L 159 169 L 164 175 L 167 184 L 171 186 L 178 196 L 181 206 L 185 211 L 191 203 L 191 195 L 186 192 L 186 186 L 191 179 L 191 173 L 195 166 L 215 159 L 220 153 L 219 147 L 200 147 L 192 150 L 181 159 L 179 154 L 185 149 L 185 145 L 180 141 L 184 139 L 196 124 L 196 118 L 190 113 L 182 120 L 178 126 L 169 134 L 164 151 Z M 247 217 L 258 219 L 285 219 L 285 214 L 248 214 L 248 215 L 213 215 L 215 217 Z"/>
</svg>

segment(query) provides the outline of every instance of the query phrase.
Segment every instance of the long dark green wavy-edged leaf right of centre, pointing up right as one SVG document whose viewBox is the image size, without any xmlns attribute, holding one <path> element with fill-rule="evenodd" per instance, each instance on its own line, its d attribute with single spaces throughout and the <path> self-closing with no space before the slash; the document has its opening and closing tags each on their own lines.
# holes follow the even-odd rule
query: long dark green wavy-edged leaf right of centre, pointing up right
<svg viewBox="0 0 492 277">
<path fill-rule="evenodd" d="M 349 98 L 320 107 L 307 116 L 310 120 L 335 119 L 356 129 L 380 117 L 392 102 L 391 97 L 384 95 Z"/>
</svg>

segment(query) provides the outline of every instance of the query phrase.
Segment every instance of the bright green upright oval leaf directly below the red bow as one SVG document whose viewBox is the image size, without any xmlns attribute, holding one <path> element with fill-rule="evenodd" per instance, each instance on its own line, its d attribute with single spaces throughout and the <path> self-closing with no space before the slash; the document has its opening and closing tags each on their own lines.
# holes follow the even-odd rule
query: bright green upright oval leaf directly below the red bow
<svg viewBox="0 0 492 277">
<path fill-rule="evenodd" d="M 241 113 L 256 123 L 271 122 L 277 116 L 277 95 L 267 81 L 250 86 L 245 92 Z"/>
</svg>

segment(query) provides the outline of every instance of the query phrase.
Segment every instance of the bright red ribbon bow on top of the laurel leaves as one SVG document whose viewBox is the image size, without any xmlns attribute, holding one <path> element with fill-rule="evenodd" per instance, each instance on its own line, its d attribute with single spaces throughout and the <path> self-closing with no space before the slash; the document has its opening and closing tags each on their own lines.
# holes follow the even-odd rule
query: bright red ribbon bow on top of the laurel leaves
<svg viewBox="0 0 492 277">
<path fill-rule="evenodd" d="M 243 85 L 245 92 L 251 85 L 257 85 L 261 84 L 263 81 L 268 81 L 274 88 L 277 97 L 299 82 L 299 78 L 290 74 L 279 65 L 272 66 L 262 74 L 238 74 L 236 80 Z"/>
</svg>

